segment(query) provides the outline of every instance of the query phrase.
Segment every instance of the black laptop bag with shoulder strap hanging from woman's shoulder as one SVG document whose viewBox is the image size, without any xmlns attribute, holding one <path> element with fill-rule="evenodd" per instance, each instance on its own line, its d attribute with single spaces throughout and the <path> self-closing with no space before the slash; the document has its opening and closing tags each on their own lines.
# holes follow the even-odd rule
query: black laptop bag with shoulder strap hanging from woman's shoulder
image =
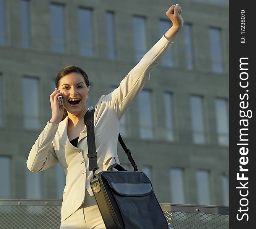
<svg viewBox="0 0 256 229">
<path fill-rule="evenodd" d="M 168 229 L 168 223 L 146 174 L 139 172 L 121 135 L 118 141 L 125 150 L 134 171 L 113 164 L 99 172 L 94 138 L 94 109 L 87 111 L 89 170 L 93 171 L 91 188 L 107 229 Z M 113 171 L 113 169 L 117 171 Z"/>
</svg>

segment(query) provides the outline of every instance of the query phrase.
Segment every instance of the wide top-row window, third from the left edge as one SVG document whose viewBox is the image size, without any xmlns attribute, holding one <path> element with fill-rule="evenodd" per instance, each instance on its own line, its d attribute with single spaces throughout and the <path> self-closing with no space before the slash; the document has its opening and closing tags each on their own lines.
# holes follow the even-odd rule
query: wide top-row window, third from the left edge
<svg viewBox="0 0 256 229">
<path fill-rule="evenodd" d="M 53 52 L 65 52 L 64 6 L 50 4 L 50 29 Z"/>
</svg>

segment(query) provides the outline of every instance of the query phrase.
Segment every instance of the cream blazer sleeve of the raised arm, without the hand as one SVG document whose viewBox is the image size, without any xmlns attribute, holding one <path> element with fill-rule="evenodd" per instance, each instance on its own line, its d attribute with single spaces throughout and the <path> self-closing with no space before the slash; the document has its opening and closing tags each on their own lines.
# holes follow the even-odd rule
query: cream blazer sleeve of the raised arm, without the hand
<svg viewBox="0 0 256 229">
<path fill-rule="evenodd" d="M 164 36 L 143 56 L 139 63 L 131 69 L 112 93 L 104 96 L 102 102 L 107 102 L 117 112 L 117 117 L 122 118 L 144 84 L 149 81 L 150 73 L 156 68 L 167 50 L 171 47 Z"/>
</svg>

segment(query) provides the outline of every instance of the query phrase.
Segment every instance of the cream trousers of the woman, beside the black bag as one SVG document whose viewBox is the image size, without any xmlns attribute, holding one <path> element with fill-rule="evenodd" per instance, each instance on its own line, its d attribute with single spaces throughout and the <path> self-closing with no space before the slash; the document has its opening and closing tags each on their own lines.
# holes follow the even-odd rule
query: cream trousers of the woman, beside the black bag
<svg viewBox="0 0 256 229">
<path fill-rule="evenodd" d="M 83 205 L 62 221 L 60 229 L 106 229 L 96 199 L 87 190 Z"/>
</svg>

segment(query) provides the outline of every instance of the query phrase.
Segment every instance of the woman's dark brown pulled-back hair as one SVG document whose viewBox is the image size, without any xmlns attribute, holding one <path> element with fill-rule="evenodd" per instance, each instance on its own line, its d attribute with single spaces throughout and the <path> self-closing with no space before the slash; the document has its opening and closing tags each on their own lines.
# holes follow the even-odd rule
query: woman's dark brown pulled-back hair
<svg viewBox="0 0 256 229">
<path fill-rule="evenodd" d="M 70 73 L 78 73 L 81 76 L 83 76 L 86 86 L 89 87 L 89 79 L 88 79 L 88 76 L 85 73 L 85 71 L 83 69 L 81 69 L 77 66 L 73 66 L 73 65 L 68 65 L 59 71 L 59 73 L 55 79 L 55 87 L 58 88 L 59 84 L 60 84 L 60 79 L 63 76 L 66 76 L 67 74 L 70 74 Z M 64 108 L 64 114 L 63 114 L 62 120 L 64 120 L 66 118 L 66 116 L 68 116 L 68 113 L 67 113 L 66 109 Z"/>
</svg>

